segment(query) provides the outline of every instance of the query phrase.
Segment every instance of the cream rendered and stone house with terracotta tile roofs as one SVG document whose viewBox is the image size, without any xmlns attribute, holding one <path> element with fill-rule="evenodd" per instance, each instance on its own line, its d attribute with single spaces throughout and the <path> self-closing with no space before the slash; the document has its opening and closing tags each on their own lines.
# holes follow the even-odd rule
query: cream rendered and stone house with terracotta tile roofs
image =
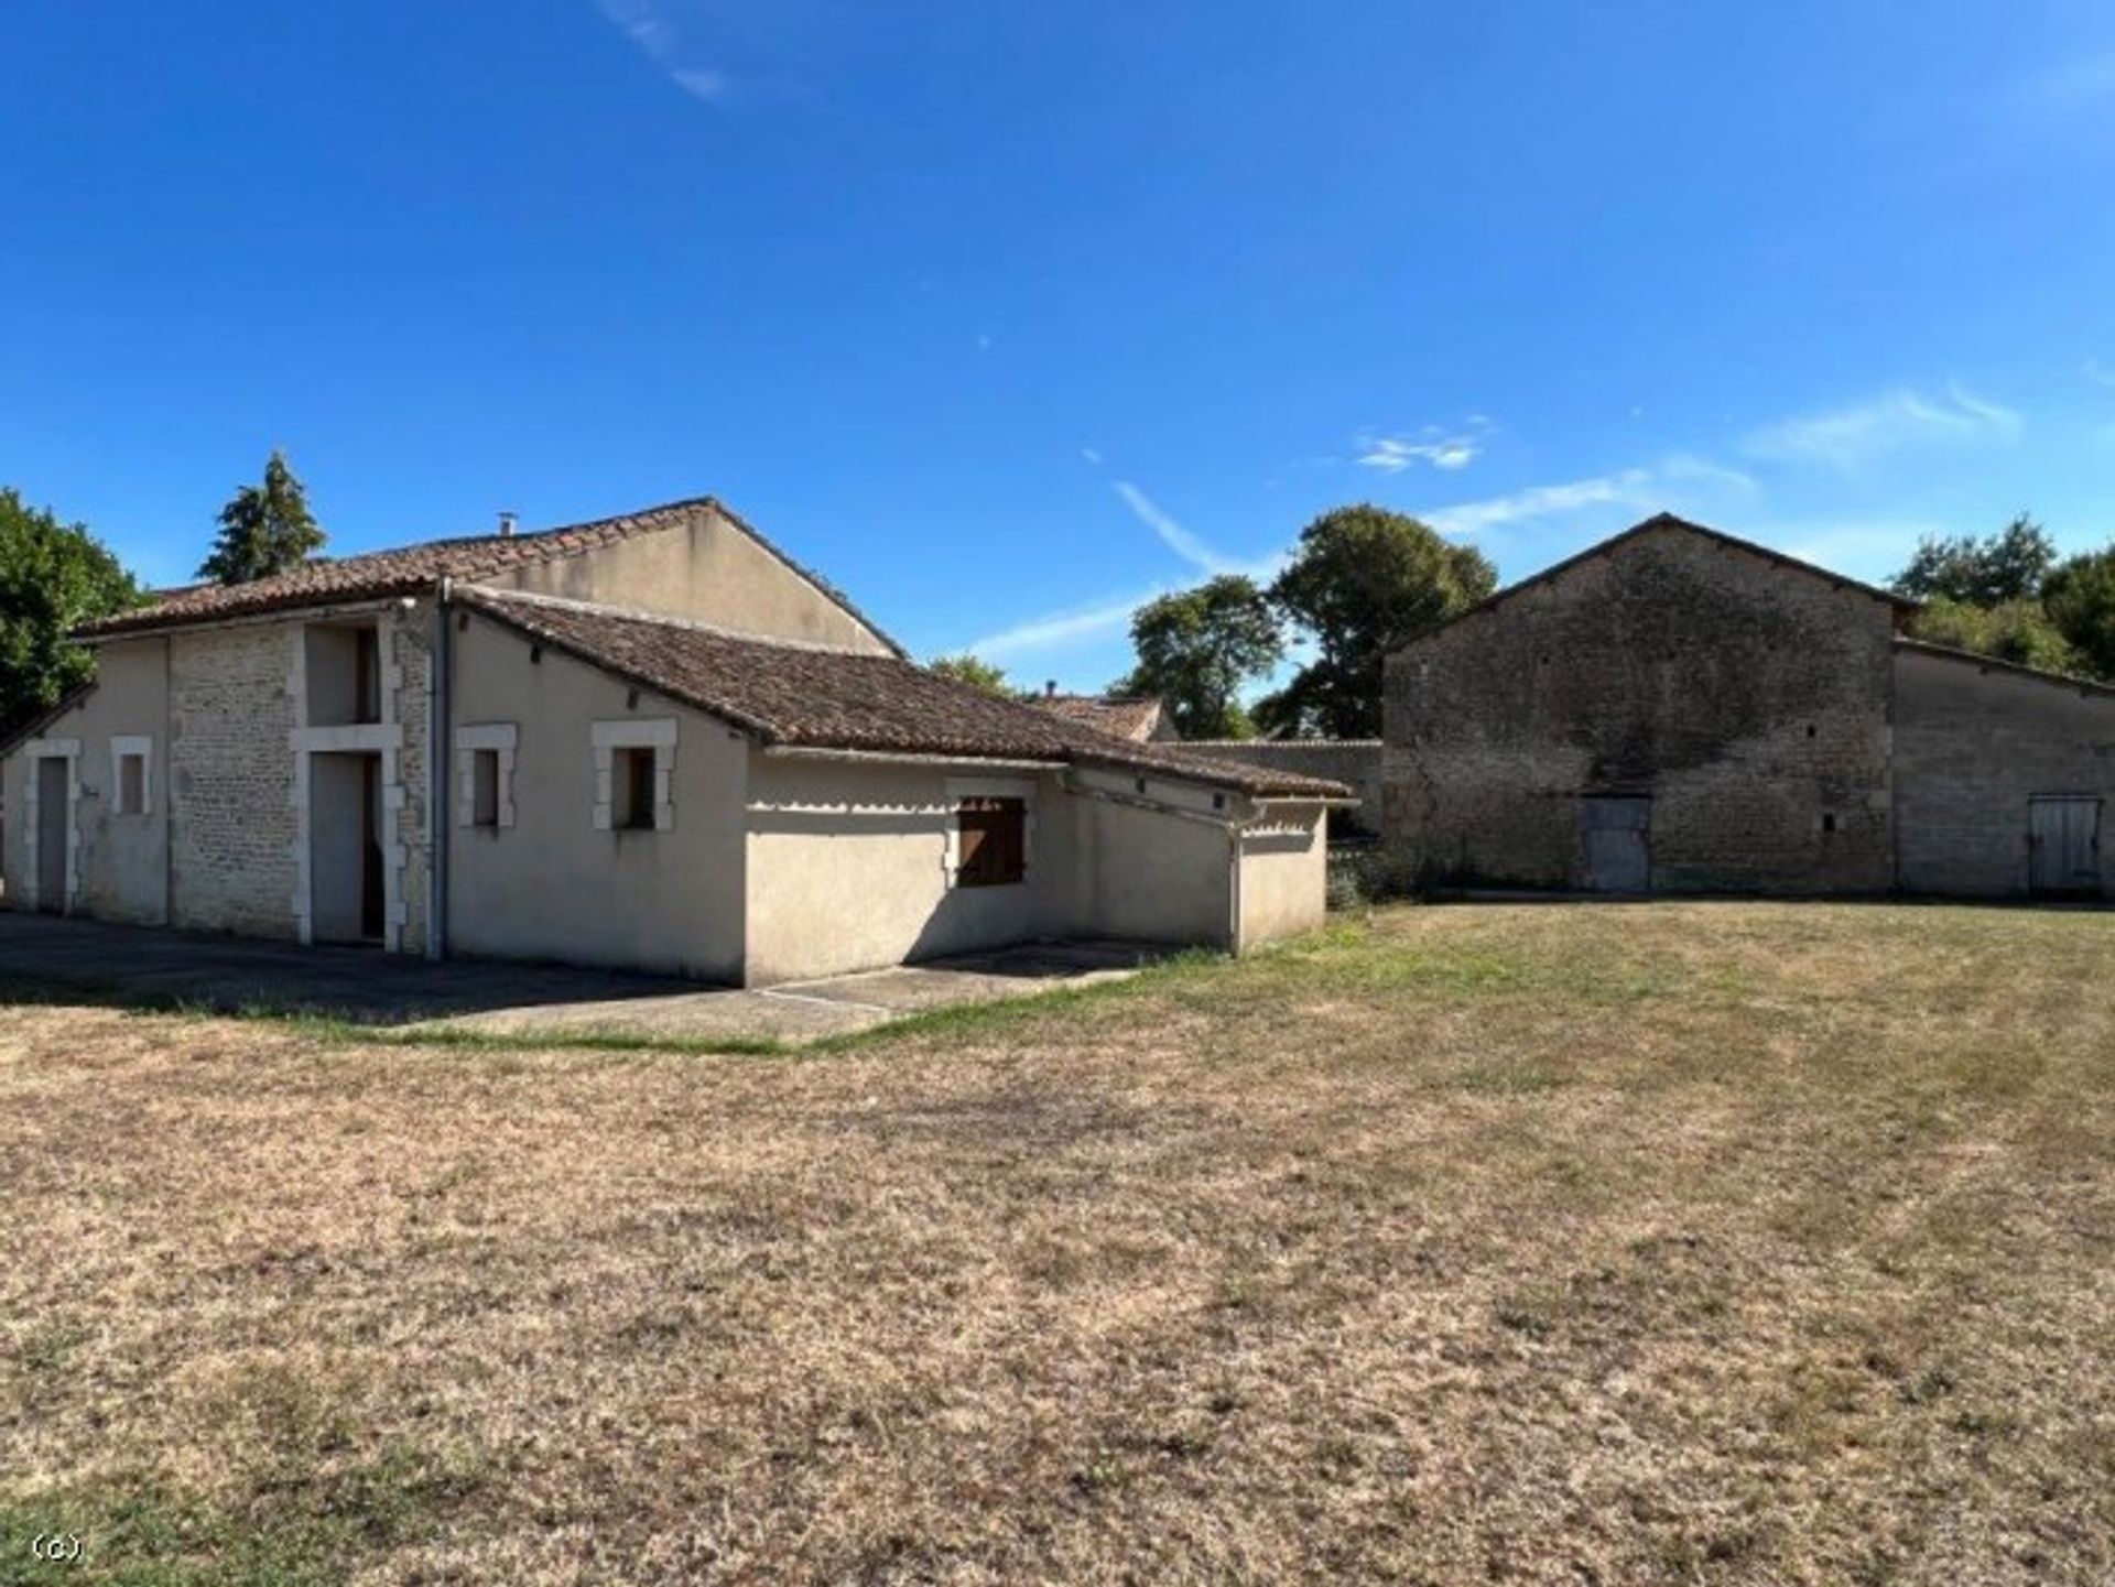
<svg viewBox="0 0 2115 1587">
<path fill-rule="evenodd" d="M 764 985 L 1248 949 L 1345 788 L 992 699 L 711 499 L 169 592 L 4 748 L 17 907 Z"/>
</svg>

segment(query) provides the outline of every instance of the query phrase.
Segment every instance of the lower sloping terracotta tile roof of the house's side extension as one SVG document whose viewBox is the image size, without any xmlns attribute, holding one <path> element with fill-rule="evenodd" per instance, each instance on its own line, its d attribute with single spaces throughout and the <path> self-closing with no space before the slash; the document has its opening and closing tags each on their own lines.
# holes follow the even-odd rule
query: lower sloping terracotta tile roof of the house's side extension
<svg viewBox="0 0 2115 1587">
<path fill-rule="evenodd" d="M 893 655 L 785 645 L 497 590 L 459 590 L 457 598 L 537 642 L 742 727 L 768 746 L 1072 761 L 1250 795 L 1349 797 L 1349 788 L 1322 778 L 1110 738 Z"/>
</svg>

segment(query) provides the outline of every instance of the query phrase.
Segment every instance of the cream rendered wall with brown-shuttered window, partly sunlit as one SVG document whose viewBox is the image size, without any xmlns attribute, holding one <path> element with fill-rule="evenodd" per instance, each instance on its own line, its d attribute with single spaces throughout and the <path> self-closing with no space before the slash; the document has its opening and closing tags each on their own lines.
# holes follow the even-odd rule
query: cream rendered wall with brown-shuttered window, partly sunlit
<svg viewBox="0 0 2115 1587">
<path fill-rule="evenodd" d="M 1030 799 L 1028 875 L 950 888 L 964 792 Z M 1074 801 L 1051 773 L 789 761 L 749 776 L 749 983 L 1064 936 L 1074 917 Z"/>
</svg>

